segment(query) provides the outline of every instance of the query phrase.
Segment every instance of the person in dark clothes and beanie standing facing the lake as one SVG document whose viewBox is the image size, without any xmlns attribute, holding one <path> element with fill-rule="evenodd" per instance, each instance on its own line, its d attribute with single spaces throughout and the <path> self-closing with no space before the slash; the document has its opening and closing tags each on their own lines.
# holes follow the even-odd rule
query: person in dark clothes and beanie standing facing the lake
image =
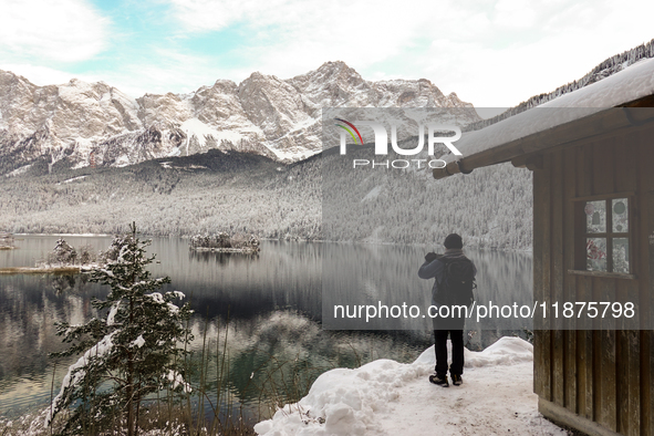
<svg viewBox="0 0 654 436">
<path fill-rule="evenodd" d="M 477 268 L 473 261 L 464 255 L 464 242 L 459 235 L 448 235 L 443 245 L 445 246 L 444 255 L 428 252 L 425 256 L 425 263 L 421 266 L 418 277 L 421 279 L 436 279 L 434 281 L 434 287 L 432 288 L 432 305 L 436 308 L 434 313 L 440 314 L 447 312 L 448 314 L 443 318 L 433 318 L 436 367 L 434 374 L 429 375 L 429 382 L 447 387 L 449 386 L 447 381 L 448 335 L 451 341 L 451 366 L 449 366 L 449 375 L 455 386 L 459 386 L 464 383 L 461 375 L 464 373 L 464 325 L 466 318 L 460 309 L 458 311 L 451 310 L 451 304 L 453 301 L 456 300 L 456 297 L 449 294 L 454 292 L 454 290 L 446 286 L 445 279 L 448 273 L 451 273 L 450 271 L 453 271 L 453 269 L 449 268 L 449 266 L 453 263 L 456 263 L 459 269 L 467 269 L 467 274 L 471 274 L 473 281 L 477 273 Z M 449 310 L 438 311 L 438 308 L 442 305 L 449 305 Z"/>
</svg>

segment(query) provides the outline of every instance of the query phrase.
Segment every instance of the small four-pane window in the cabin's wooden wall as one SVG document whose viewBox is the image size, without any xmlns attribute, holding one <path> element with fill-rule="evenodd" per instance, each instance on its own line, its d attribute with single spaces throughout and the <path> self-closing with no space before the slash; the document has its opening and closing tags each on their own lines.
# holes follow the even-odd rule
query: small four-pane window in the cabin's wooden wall
<svg viewBox="0 0 654 436">
<path fill-rule="evenodd" d="M 629 274 L 629 198 L 586 200 L 583 211 L 585 270 Z"/>
</svg>

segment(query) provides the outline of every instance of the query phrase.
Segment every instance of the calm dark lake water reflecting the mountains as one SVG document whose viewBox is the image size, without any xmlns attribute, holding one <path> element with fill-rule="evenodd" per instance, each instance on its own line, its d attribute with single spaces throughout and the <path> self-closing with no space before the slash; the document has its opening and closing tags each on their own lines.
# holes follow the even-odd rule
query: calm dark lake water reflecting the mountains
<svg viewBox="0 0 654 436">
<path fill-rule="evenodd" d="M 19 249 L 0 251 L 0 268 L 34 266 L 59 239 L 17 238 Z M 63 238 L 75 248 L 91 246 L 95 251 L 106 249 L 112 240 Z M 209 414 L 212 404 L 220 404 L 222 413 L 242 405 L 246 415 L 259 416 L 268 412 L 259 409 L 261 395 L 293 399 L 332 367 L 354 367 L 380 357 L 412 362 L 429 346 L 427 324 L 422 330 L 380 331 L 390 324 L 371 325 L 375 331 L 322 329 L 323 270 L 329 272 L 324 280 L 328 300 L 333 293 L 344 295 L 341 301 L 346 302 L 347 292 L 361 288 L 370 301 L 424 303 L 429 300 L 432 280 L 417 279 L 416 271 L 429 250 L 262 241 L 258 256 L 246 256 L 198 253 L 189 251 L 187 239 L 153 238 L 150 252 L 159 263 L 152 264 L 150 271 L 155 277 L 169 276 L 169 290 L 183 291 L 195 310 L 193 347 L 198 359 L 205 350 L 208 362 L 204 412 Z M 478 301 L 531 301 L 529 253 L 470 250 L 467 255 L 479 271 Z M 355 283 L 332 279 L 352 274 L 359 277 Z M 65 349 L 53 324 L 82 323 L 102 315 L 90 301 L 106 292 L 106 287 L 89 283 L 84 276 L 0 276 L 0 415 L 15 416 L 49 404 L 53 377 L 56 393 L 68 365 L 76 360 L 48 357 Z M 330 316 L 331 310 L 325 313 Z M 501 335 L 522 333 L 518 325 L 489 329 L 473 324 L 469 329 L 469 347 L 477 350 Z M 224 383 L 217 383 L 217 373 L 224 374 Z M 199 374 L 191 378 L 200 383 Z"/>
</svg>

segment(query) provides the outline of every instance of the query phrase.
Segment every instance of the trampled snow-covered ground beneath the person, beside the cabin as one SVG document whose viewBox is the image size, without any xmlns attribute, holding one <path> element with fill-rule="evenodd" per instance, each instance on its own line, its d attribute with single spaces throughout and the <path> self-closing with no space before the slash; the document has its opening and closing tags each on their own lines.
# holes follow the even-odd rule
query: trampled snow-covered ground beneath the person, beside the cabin
<svg viewBox="0 0 654 436">
<path fill-rule="evenodd" d="M 448 343 L 449 346 L 449 343 Z M 255 426 L 259 435 L 567 435 L 538 413 L 533 347 L 501 338 L 466 350 L 461 386 L 440 387 L 434 347 L 414 363 L 378 360 L 322 374 L 309 395 Z"/>
</svg>

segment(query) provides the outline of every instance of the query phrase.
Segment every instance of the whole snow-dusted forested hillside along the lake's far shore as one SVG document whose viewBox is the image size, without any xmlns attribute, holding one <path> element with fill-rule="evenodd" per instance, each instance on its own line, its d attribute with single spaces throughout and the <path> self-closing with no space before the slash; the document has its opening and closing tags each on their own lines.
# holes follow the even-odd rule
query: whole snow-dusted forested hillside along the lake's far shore
<svg viewBox="0 0 654 436">
<path fill-rule="evenodd" d="M 352 170 L 351 165 L 316 155 L 284 166 L 253 154 L 210 150 L 123 168 L 55 167 L 49 174 L 48 162 L 37 160 L 0 180 L 0 231 L 113 233 L 134 220 L 149 235 L 246 231 L 263 238 L 433 243 L 458 231 L 469 246 L 531 246 L 527 170 L 500 165 L 436 181 L 426 170 Z"/>
</svg>

